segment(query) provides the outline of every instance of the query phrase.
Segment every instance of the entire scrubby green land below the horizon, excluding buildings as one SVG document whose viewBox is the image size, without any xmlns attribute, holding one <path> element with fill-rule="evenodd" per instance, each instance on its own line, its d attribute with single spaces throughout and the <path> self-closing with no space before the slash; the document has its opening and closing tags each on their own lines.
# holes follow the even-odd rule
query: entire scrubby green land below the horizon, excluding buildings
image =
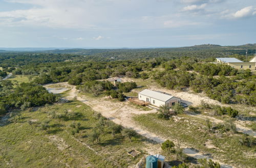
<svg viewBox="0 0 256 168">
<path fill-rule="evenodd" d="M 221 55 L 245 61 L 244 48 L 250 59 L 254 47 L 3 51 L 1 167 L 135 165 L 148 148 L 161 149 L 136 131 L 155 141 L 169 139 L 159 153 L 171 165 L 178 166 L 174 164 L 178 161 L 179 167 L 190 167 L 188 162 L 219 167 L 216 161 L 189 160 L 183 148 L 193 147 L 223 163 L 253 167 L 255 137 L 237 132 L 237 127 L 242 123 L 255 130 L 255 72 L 213 62 Z M 112 77 L 122 82 L 114 85 L 109 81 Z M 57 87 L 66 92 L 49 93 L 49 83 L 55 84 L 48 90 Z M 207 101 L 199 104 L 199 100 L 188 108 L 162 106 L 158 111 L 124 101 L 144 89 L 188 94 L 187 101 L 195 97 Z M 133 149 L 141 154 L 127 155 Z"/>
</svg>

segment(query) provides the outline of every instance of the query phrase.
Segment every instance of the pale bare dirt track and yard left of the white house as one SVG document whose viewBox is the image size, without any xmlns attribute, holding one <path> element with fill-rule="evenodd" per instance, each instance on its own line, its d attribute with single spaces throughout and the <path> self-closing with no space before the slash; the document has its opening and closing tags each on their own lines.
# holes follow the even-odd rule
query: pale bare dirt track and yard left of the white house
<svg viewBox="0 0 256 168">
<path fill-rule="evenodd" d="M 108 100 L 107 97 L 90 98 L 87 96 L 78 96 L 78 91 L 76 90 L 75 86 L 71 86 L 67 82 L 52 84 L 52 85 L 48 85 L 45 87 L 46 88 L 54 87 L 54 85 L 58 85 L 58 86 L 61 85 L 63 87 L 72 88 L 72 89 L 70 89 L 66 99 L 76 98 L 77 100 L 83 102 L 84 104 L 89 105 L 93 110 L 97 111 L 102 116 L 112 120 L 116 124 L 120 124 L 123 127 L 133 128 L 140 135 L 142 135 L 146 138 L 152 139 L 153 141 L 155 141 L 157 143 L 163 143 L 166 140 L 165 137 L 162 137 L 160 135 L 149 132 L 149 131 L 143 129 L 142 127 L 140 127 L 139 125 L 137 125 L 133 121 L 134 115 L 156 113 L 156 109 L 153 109 L 150 111 L 143 111 L 143 110 L 139 110 L 139 109 L 132 107 L 131 105 L 129 105 L 129 102 L 111 102 Z M 193 95 L 190 95 L 190 96 L 193 97 Z M 189 97 L 187 97 L 187 98 L 189 98 Z M 194 101 L 196 102 L 196 99 Z M 210 99 L 208 101 L 212 102 L 215 100 Z M 199 102 L 201 102 L 201 101 L 199 101 Z M 179 142 L 175 141 L 174 139 L 172 139 L 171 137 L 168 137 L 168 138 L 170 140 L 174 141 L 175 143 L 179 143 Z M 184 150 L 184 153 L 186 153 L 190 157 L 196 158 L 196 157 L 200 156 L 201 158 L 206 158 L 206 156 L 203 153 L 193 151 L 189 147 L 187 147 L 185 144 L 179 143 L 179 145 L 181 148 L 186 149 L 186 151 Z M 148 143 L 148 148 L 146 148 L 145 150 L 148 153 L 154 154 L 156 152 L 160 152 L 160 146 L 159 146 L 159 144 L 152 145 L 152 144 Z M 218 161 L 220 164 L 225 165 L 224 163 L 222 163 L 219 160 L 215 160 L 215 159 L 212 159 L 212 160 Z M 226 167 L 230 167 L 230 166 L 226 166 Z"/>
</svg>

